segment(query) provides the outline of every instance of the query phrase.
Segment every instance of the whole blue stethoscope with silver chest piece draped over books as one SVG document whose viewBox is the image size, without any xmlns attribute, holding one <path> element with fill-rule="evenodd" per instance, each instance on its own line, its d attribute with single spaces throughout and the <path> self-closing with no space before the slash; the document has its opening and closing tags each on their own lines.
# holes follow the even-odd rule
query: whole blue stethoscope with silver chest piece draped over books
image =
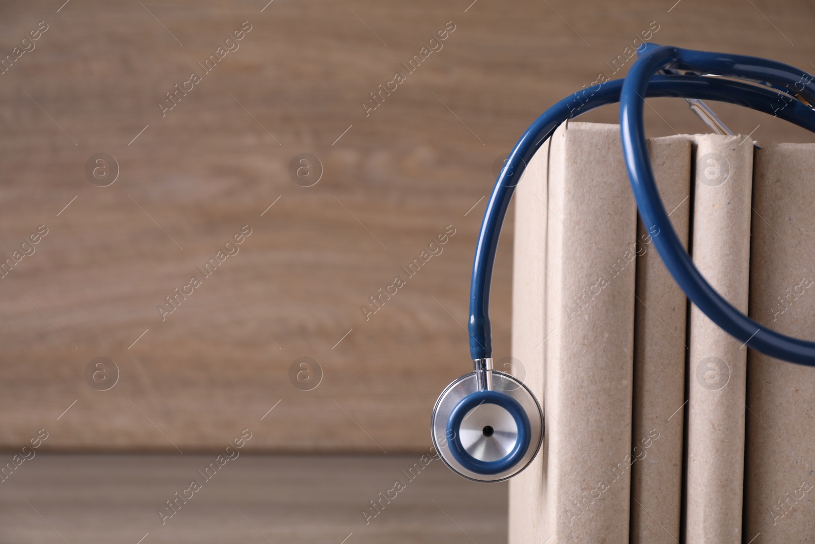
<svg viewBox="0 0 815 544">
<path fill-rule="evenodd" d="M 788 64 L 744 55 L 692 51 L 645 43 L 625 79 L 589 87 L 554 104 L 524 132 L 493 188 L 478 235 L 469 295 L 469 349 L 474 371 L 438 397 L 430 421 L 433 443 L 458 474 L 477 481 L 506 480 L 535 458 L 543 414 L 517 378 L 492 369 L 489 312 L 496 248 L 509 200 L 524 167 L 567 119 L 619 101 L 623 156 L 642 222 L 688 298 L 722 329 L 765 355 L 815 366 L 815 342 L 759 325 L 714 290 L 694 266 L 659 197 L 643 123 L 645 97 L 674 96 L 739 104 L 815 132 L 813 76 Z M 709 110 L 707 110 L 709 112 Z M 656 227 L 652 229 L 650 227 Z"/>
</svg>

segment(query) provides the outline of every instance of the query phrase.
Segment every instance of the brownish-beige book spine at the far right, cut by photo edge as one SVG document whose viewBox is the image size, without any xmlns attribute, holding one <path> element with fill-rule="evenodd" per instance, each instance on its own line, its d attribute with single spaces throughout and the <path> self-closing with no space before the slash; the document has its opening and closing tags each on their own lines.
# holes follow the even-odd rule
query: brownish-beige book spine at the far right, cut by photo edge
<svg viewBox="0 0 815 544">
<path fill-rule="evenodd" d="M 750 316 L 782 334 L 813 338 L 815 145 L 756 150 Z M 815 369 L 747 355 L 744 542 L 807 542 L 815 534 Z"/>
</svg>

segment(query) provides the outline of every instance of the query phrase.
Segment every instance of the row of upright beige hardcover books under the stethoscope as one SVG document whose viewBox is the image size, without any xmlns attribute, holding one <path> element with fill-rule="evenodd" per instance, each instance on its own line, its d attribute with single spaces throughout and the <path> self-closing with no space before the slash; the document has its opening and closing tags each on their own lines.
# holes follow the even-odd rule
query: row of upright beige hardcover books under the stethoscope
<svg viewBox="0 0 815 544">
<path fill-rule="evenodd" d="M 813 336 L 815 146 L 676 135 L 649 149 L 711 285 Z M 515 206 L 513 357 L 546 434 L 511 481 L 510 542 L 812 537 L 815 369 L 752 352 L 688 303 L 637 218 L 619 126 L 561 126 Z"/>
</svg>

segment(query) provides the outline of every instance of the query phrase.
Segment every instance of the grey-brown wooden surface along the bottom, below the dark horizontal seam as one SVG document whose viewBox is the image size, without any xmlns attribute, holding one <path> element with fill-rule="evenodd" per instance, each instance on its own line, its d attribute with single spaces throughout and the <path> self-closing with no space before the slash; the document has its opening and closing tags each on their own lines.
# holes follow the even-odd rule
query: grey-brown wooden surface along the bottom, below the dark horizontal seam
<svg viewBox="0 0 815 544">
<path fill-rule="evenodd" d="M 0 486 L 0 542 L 506 542 L 507 484 L 464 480 L 438 460 L 410 480 L 419 455 L 239 455 L 204 480 L 214 458 L 37 455 Z M 184 493 L 193 479 L 200 489 Z M 394 480 L 404 489 L 391 492 Z M 170 499 L 176 511 L 161 517 Z M 380 511 L 366 518 L 372 500 Z"/>
</svg>

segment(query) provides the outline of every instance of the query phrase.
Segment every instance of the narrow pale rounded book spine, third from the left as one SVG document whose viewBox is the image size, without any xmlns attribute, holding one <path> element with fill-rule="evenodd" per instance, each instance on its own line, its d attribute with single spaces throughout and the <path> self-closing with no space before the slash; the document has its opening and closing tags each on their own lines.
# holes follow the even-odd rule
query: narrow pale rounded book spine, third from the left
<svg viewBox="0 0 815 544">
<path fill-rule="evenodd" d="M 696 139 L 691 254 L 725 299 L 747 311 L 753 146 Z M 685 542 L 742 542 L 747 348 L 691 306 Z"/>
</svg>

